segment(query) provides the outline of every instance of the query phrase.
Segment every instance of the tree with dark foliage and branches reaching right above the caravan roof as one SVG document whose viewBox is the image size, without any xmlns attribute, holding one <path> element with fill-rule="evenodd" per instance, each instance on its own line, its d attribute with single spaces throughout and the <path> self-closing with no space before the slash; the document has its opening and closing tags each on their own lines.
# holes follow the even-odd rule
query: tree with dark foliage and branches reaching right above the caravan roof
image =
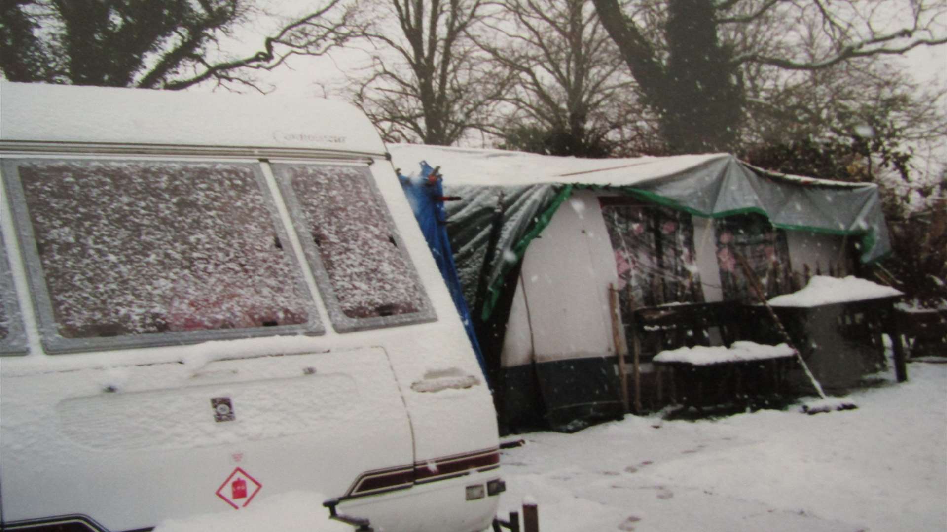
<svg viewBox="0 0 947 532">
<path fill-rule="evenodd" d="M 344 43 L 353 12 L 345 0 L 327 0 L 259 51 L 227 58 L 220 44 L 260 14 L 253 0 L 4 0 L 0 73 L 80 85 L 183 89 L 213 80 L 258 88 L 253 70 Z"/>
</svg>

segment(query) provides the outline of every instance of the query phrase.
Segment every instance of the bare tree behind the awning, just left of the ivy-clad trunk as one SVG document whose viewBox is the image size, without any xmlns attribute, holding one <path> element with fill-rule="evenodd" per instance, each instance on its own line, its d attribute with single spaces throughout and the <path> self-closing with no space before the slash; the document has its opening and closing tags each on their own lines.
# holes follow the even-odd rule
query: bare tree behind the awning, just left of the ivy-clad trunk
<svg viewBox="0 0 947 532">
<path fill-rule="evenodd" d="M 515 84 L 504 99 L 508 146 L 559 155 L 598 155 L 623 124 L 634 84 L 616 46 L 584 0 L 497 3 L 475 37 Z"/>
</svg>

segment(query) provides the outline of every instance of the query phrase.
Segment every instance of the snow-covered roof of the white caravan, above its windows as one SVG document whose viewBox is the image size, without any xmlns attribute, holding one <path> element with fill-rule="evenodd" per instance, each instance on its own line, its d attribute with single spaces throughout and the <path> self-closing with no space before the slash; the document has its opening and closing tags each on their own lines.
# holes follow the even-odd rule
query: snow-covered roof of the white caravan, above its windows
<svg viewBox="0 0 947 532">
<path fill-rule="evenodd" d="M 43 83 L 0 82 L 5 141 L 384 154 L 374 126 L 347 103 Z"/>
</svg>

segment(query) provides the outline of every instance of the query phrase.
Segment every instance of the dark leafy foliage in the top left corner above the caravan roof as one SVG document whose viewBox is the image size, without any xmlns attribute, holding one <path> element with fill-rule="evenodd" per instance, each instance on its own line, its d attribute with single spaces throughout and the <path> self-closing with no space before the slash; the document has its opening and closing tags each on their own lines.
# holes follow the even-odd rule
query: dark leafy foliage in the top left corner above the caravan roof
<svg viewBox="0 0 947 532">
<path fill-rule="evenodd" d="M 11 81 L 159 86 L 201 63 L 242 0 L 5 0 L 0 71 Z"/>
</svg>

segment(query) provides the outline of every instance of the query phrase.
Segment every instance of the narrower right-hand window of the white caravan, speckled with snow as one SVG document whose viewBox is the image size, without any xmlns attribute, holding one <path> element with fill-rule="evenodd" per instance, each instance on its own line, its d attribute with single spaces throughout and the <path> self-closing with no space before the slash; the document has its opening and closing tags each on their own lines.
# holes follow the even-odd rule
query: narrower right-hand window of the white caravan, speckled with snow
<svg viewBox="0 0 947 532">
<path fill-rule="evenodd" d="M 277 164 L 274 171 L 337 330 L 434 318 L 367 167 Z"/>
</svg>

